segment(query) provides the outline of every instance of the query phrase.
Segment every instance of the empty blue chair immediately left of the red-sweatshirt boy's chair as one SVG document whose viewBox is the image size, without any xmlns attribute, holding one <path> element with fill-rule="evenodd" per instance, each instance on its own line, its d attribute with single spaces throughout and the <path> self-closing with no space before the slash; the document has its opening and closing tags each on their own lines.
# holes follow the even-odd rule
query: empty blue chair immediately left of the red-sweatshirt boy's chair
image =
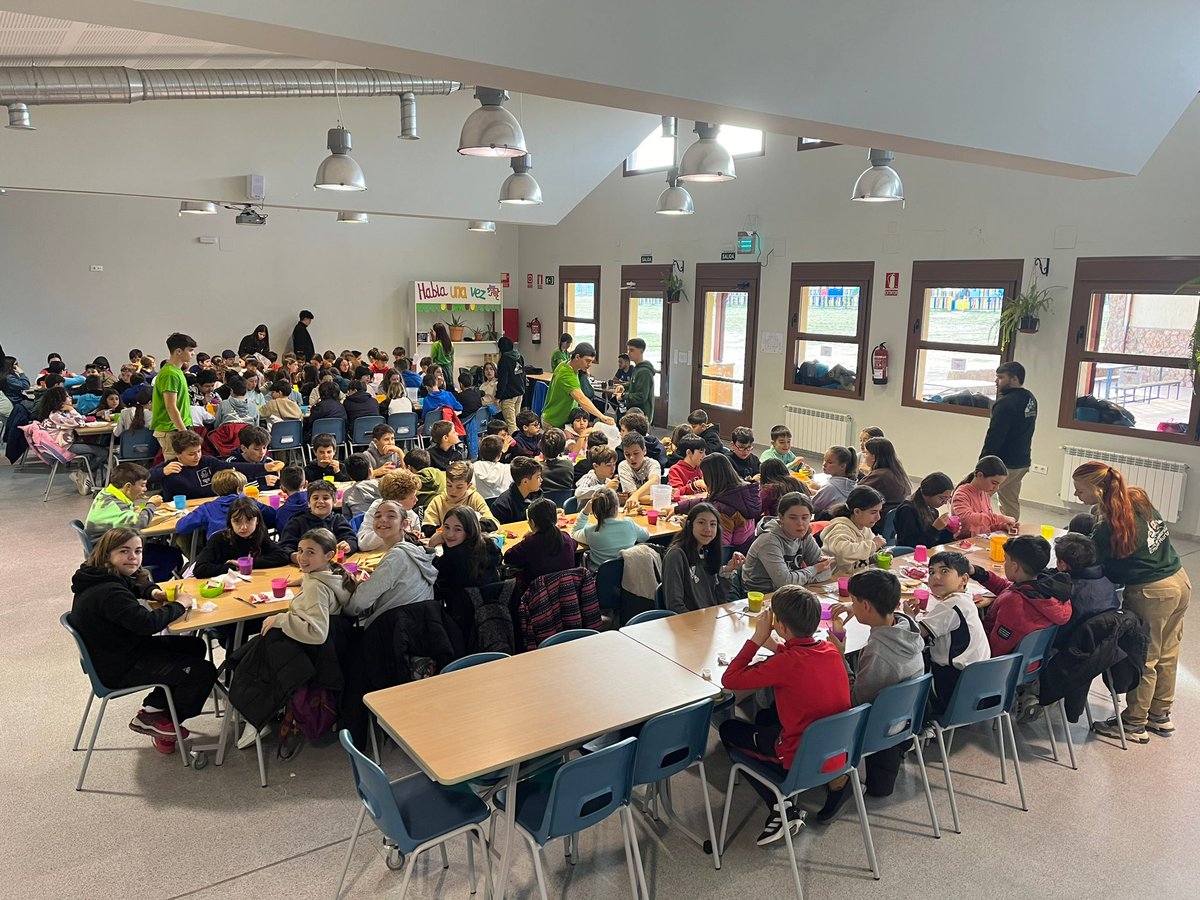
<svg viewBox="0 0 1200 900">
<path fill-rule="evenodd" d="M 658 611 L 661 612 L 661 611 Z M 642 613 L 643 616 L 647 613 Z M 672 613 L 668 613 L 672 614 Z M 656 715 L 637 733 L 637 756 L 634 758 L 634 786 L 647 785 L 647 804 L 654 804 L 654 818 L 661 809 L 694 844 L 713 857 L 713 868 L 721 868 L 716 847 L 716 826 L 708 797 L 708 774 L 704 772 L 704 751 L 708 748 L 708 726 L 713 720 L 713 701 L 698 703 Z M 692 833 L 679 821 L 671 796 L 671 778 L 692 766 L 700 766 L 700 792 L 704 798 L 704 818 L 708 840 Z M 661 799 L 661 805 L 659 800 Z M 649 811 L 647 809 L 647 815 Z"/>
</svg>

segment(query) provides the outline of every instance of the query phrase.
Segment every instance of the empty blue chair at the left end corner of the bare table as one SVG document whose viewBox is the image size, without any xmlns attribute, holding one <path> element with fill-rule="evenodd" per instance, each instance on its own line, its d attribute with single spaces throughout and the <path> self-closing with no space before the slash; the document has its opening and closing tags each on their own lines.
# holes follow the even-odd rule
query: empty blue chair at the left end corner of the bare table
<svg viewBox="0 0 1200 900">
<path fill-rule="evenodd" d="M 359 817 L 354 821 L 354 829 L 350 832 L 350 846 L 346 850 L 346 862 L 342 865 L 342 875 L 337 880 L 335 896 L 342 895 L 342 884 L 346 882 L 346 872 L 350 868 L 354 845 L 359 841 L 362 820 L 368 814 L 386 841 L 395 845 L 401 854 L 408 857 L 404 864 L 404 883 L 400 888 L 401 898 L 408 893 L 408 882 L 413 877 L 418 857 L 426 850 L 440 847 L 442 866 L 449 868 L 445 842 L 460 834 L 467 836 L 467 871 L 470 876 L 470 893 L 475 893 L 475 854 L 472 845 L 472 838 L 475 838 L 484 857 L 487 893 L 491 894 L 491 864 L 482 827 L 488 817 L 487 804 L 469 791 L 442 787 L 422 773 L 389 781 L 384 770 L 354 746 L 350 732 L 342 728 L 338 739 L 350 757 L 354 790 L 362 802 L 362 809 L 359 811 Z"/>
</svg>

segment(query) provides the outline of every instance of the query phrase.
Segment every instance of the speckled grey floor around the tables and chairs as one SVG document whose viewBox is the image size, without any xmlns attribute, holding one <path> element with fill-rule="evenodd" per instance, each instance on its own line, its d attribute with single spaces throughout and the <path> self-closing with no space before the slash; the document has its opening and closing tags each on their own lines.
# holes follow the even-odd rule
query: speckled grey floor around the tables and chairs
<svg viewBox="0 0 1200 900">
<path fill-rule="evenodd" d="M 242 898 L 330 896 L 356 816 L 349 768 L 336 744 L 306 746 L 290 762 L 269 764 L 270 786 L 258 786 L 253 751 L 233 750 L 222 768 L 184 769 L 126 727 L 134 698 L 112 704 L 88 782 L 77 793 L 82 754 L 71 740 L 86 696 L 74 648 L 58 624 L 70 608 L 71 574 L 80 560 L 67 521 L 89 500 L 61 481 L 41 502 L 46 470 L 0 467 L 0 791 L 5 816 L 0 896 L 7 898 Z M 1033 512 L 1061 524 L 1064 516 Z M 1177 541 L 1193 583 L 1200 584 L 1200 547 Z M 1195 614 L 1193 614 L 1193 618 Z M 1200 806 L 1195 733 L 1200 727 L 1200 636 L 1184 642 L 1175 721 L 1178 734 L 1152 738 L 1128 751 L 1073 728 L 1079 772 L 1049 761 L 1044 724 L 1021 726 L 1018 742 L 1030 811 L 1016 787 L 998 782 L 990 730 L 960 737 L 952 756 L 964 834 L 949 832 L 941 769 L 930 766 L 943 822 L 930 833 L 914 763 L 901 772 L 896 794 L 869 810 L 883 878 L 866 869 L 857 818 L 808 827 L 799 839 L 809 896 L 1198 896 Z M 612 677 L 617 673 L 598 673 Z M 1097 715 L 1106 700 L 1094 692 Z M 547 713 L 550 714 L 550 713 Z M 446 710 L 454 715 L 452 709 Z M 215 733 L 211 718 L 192 724 Z M 463 740 L 480 736 L 463 734 Z M 272 749 L 272 748 L 269 748 Z M 934 752 L 936 755 L 936 751 Z M 408 773 L 395 746 L 384 768 Z M 720 816 L 727 757 L 712 742 L 708 776 Z M 815 810 L 821 797 L 805 797 Z M 676 806 L 702 828 L 700 780 L 676 780 Z M 638 823 L 647 876 L 659 898 L 786 898 L 791 874 L 782 842 L 755 846 L 763 817 L 757 797 L 742 786 L 733 798 L 737 828 L 720 871 L 678 833 Z M 581 838 L 578 865 L 562 845 L 546 851 L 550 895 L 586 900 L 629 895 L 619 823 Z M 524 847 L 510 896 L 538 895 Z M 384 865 L 378 835 L 365 830 L 350 865 L 347 896 L 396 894 L 400 875 Z M 1190 886 L 1190 887 L 1189 887 Z M 858 892 L 863 892 L 859 894 Z M 437 856 L 421 862 L 409 896 L 466 896 L 464 845 L 451 845 L 450 869 Z M 480 893 L 482 896 L 482 893 Z"/>
</svg>

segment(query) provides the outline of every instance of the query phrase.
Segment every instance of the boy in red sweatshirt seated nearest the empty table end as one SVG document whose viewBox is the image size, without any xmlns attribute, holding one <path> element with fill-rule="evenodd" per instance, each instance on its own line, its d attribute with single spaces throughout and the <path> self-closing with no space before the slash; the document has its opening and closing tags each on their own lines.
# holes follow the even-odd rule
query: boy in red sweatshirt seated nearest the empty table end
<svg viewBox="0 0 1200 900">
<path fill-rule="evenodd" d="M 754 722 L 728 719 L 721 722 L 721 743 L 761 761 L 772 774 L 786 778 L 804 730 L 818 719 L 850 709 L 850 678 L 838 648 L 817 641 L 812 634 L 821 624 L 821 601 L 802 587 L 788 584 L 775 592 L 770 607 L 755 622 L 754 636 L 731 660 L 721 685 L 733 691 L 772 688 L 775 703 L 761 710 Z M 784 638 L 773 642 L 773 654 L 755 662 L 758 649 L 772 641 L 772 631 Z M 774 792 L 757 779 L 745 779 L 767 804 L 767 821 L 758 834 L 758 846 L 793 835 L 804 824 L 804 811 L 785 800 L 779 809 Z"/>
</svg>

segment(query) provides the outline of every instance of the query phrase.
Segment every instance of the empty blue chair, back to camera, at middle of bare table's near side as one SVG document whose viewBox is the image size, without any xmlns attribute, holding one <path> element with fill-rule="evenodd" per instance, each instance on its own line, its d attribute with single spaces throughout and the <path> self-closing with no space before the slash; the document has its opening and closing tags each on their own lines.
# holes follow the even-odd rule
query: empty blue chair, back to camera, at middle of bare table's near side
<svg viewBox="0 0 1200 900">
<path fill-rule="evenodd" d="M 637 738 L 625 738 L 604 750 L 545 769 L 528 781 L 522 781 L 517 787 L 515 800 L 517 832 L 529 842 L 538 888 L 542 898 L 546 896 L 542 847 L 556 838 L 569 840 L 572 835 L 599 824 L 613 812 L 620 816 L 625 838 L 629 887 L 635 898 L 650 895 L 646 888 L 646 872 L 642 869 L 642 852 L 637 845 L 634 816 L 629 811 L 629 802 L 634 793 L 636 751 Z M 505 809 L 509 790 L 504 788 L 496 794 L 496 805 L 500 810 Z M 571 860 L 574 863 L 574 857 Z"/>
</svg>

